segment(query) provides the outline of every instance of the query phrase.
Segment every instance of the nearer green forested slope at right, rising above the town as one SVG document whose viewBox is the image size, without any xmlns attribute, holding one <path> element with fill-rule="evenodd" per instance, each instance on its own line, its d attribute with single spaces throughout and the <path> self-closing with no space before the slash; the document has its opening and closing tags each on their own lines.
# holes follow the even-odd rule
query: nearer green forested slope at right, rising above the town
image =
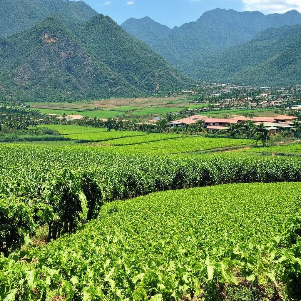
<svg viewBox="0 0 301 301">
<path fill-rule="evenodd" d="M 243 85 L 301 82 L 301 25 L 270 28 L 251 41 L 187 66 L 198 79 Z"/>
</svg>

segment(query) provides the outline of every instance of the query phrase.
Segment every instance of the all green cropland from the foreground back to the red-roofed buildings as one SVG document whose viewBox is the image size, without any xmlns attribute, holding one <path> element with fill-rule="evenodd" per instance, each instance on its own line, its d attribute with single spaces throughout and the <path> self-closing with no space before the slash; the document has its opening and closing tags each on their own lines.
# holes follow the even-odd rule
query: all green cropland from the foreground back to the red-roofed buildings
<svg viewBox="0 0 301 301">
<path fill-rule="evenodd" d="M 36 129 L 70 140 L 0 144 L 0 300 L 299 301 L 300 144 Z"/>
</svg>

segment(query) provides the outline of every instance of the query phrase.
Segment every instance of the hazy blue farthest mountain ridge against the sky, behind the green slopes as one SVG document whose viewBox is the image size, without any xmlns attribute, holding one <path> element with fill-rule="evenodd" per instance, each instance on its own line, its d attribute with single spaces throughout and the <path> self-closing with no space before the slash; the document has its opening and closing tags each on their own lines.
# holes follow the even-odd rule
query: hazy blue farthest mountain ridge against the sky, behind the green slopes
<svg viewBox="0 0 301 301">
<path fill-rule="evenodd" d="M 295 10 L 264 15 L 259 11 L 237 12 L 218 8 L 204 13 L 195 22 L 170 31 L 163 30 L 148 18 L 129 19 L 121 26 L 163 55 L 170 64 L 187 71 L 187 64 L 248 42 L 265 29 L 296 24 L 301 24 L 301 14 Z"/>
</svg>

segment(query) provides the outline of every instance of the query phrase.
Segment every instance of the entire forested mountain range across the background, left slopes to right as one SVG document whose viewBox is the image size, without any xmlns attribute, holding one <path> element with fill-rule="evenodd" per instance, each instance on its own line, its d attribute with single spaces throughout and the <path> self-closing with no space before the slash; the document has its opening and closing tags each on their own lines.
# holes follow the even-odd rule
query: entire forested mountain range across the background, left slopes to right
<svg viewBox="0 0 301 301">
<path fill-rule="evenodd" d="M 0 101 L 163 95 L 199 80 L 299 84 L 299 24 L 294 10 L 215 9 L 173 29 L 149 17 L 119 26 L 82 1 L 1 0 Z"/>
</svg>

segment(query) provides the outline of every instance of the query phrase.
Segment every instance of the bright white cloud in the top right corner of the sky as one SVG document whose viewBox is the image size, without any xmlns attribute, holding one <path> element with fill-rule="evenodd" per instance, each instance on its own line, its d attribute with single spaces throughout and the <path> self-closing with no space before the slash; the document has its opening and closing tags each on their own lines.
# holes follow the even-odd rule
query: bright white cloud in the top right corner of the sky
<svg viewBox="0 0 301 301">
<path fill-rule="evenodd" d="M 301 11 L 301 0 L 242 0 L 244 11 L 285 13 L 292 9 Z"/>
</svg>

